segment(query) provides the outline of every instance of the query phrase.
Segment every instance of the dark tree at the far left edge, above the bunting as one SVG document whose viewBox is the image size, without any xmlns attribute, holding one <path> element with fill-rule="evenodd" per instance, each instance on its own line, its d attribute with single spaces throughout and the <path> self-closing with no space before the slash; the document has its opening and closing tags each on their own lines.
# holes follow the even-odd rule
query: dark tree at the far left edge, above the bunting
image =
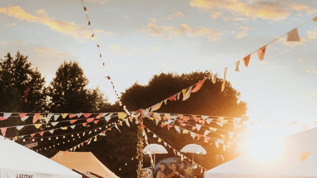
<svg viewBox="0 0 317 178">
<path fill-rule="evenodd" d="M 1 112 L 44 112 L 46 110 L 45 79 L 32 69 L 29 56 L 19 51 L 15 57 L 8 52 L 0 60 Z"/>
</svg>

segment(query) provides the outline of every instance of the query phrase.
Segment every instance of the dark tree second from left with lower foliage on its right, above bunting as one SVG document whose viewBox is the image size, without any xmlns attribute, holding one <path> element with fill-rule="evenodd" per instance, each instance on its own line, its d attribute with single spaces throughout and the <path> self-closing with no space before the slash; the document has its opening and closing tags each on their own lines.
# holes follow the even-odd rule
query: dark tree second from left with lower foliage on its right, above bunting
<svg viewBox="0 0 317 178">
<path fill-rule="evenodd" d="M 77 62 L 59 66 L 49 86 L 49 110 L 53 113 L 98 112 L 109 107 L 99 88 L 87 89 L 88 79 Z"/>
</svg>

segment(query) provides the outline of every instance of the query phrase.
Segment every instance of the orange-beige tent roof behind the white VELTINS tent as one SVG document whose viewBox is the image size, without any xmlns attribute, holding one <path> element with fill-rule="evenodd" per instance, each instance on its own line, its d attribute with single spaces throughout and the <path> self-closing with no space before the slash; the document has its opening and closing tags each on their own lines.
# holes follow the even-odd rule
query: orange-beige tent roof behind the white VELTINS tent
<svg viewBox="0 0 317 178">
<path fill-rule="evenodd" d="M 52 159 L 69 169 L 93 172 L 102 177 L 119 178 L 103 165 L 92 152 L 68 152 L 67 154 L 59 156 L 61 153 L 63 153 L 63 151 L 59 151 Z"/>
</svg>

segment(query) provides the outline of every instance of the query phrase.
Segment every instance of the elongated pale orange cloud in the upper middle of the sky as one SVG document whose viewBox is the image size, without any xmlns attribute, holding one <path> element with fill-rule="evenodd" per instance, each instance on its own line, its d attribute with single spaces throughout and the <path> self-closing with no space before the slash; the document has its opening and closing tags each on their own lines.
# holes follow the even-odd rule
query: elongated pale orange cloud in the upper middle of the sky
<svg viewBox="0 0 317 178">
<path fill-rule="evenodd" d="M 142 33 L 149 34 L 152 36 L 157 36 L 162 39 L 173 39 L 174 36 L 191 36 L 191 37 L 201 37 L 204 36 L 208 38 L 209 41 L 217 41 L 225 32 L 220 32 L 218 30 L 213 30 L 209 28 L 192 28 L 186 24 L 181 24 L 179 27 L 174 26 L 160 26 L 158 27 L 154 23 L 149 23 L 147 28 L 141 30 Z"/>
</svg>

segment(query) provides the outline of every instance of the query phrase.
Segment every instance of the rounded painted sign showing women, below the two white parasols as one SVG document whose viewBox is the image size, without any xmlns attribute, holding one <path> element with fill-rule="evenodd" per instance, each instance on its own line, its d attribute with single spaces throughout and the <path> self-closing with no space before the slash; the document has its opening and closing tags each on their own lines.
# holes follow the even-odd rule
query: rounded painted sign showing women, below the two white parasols
<svg viewBox="0 0 317 178">
<path fill-rule="evenodd" d="M 191 164 L 177 157 L 165 158 L 157 163 L 154 167 L 154 178 L 164 178 L 175 171 L 180 173 L 175 177 L 194 178 L 194 168 Z"/>
</svg>

